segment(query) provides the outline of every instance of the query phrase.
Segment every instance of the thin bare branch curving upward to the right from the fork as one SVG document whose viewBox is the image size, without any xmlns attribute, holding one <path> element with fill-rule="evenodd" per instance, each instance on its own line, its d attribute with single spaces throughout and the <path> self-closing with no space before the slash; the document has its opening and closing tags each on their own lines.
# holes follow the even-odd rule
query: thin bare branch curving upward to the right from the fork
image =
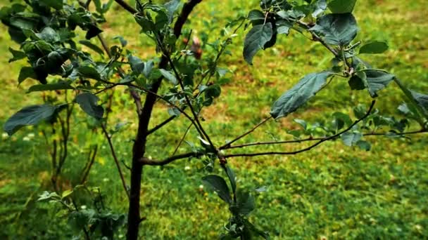
<svg viewBox="0 0 428 240">
<path fill-rule="evenodd" d="M 320 145 L 322 142 L 332 140 L 334 138 L 339 137 L 341 134 L 346 133 L 347 131 L 350 131 L 353 128 L 353 126 L 357 125 L 358 123 L 360 123 L 360 121 L 363 121 L 363 119 L 367 118 L 367 116 L 370 115 L 370 112 L 372 112 L 372 109 L 374 107 L 375 102 L 376 101 L 373 100 L 372 105 L 370 105 L 370 108 L 367 110 L 367 113 L 362 118 L 358 119 L 353 124 L 351 124 L 351 126 L 346 128 L 344 131 L 341 131 L 340 133 L 329 136 L 328 138 L 323 138 L 322 140 L 319 140 L 314 145 L 310 145 L 309 147 L 306 147 L 306 148 L 303 148 L 303 149 L 300 149 L 300 150 L 297 150 L 294 152 L 256 152 L 256 153 L 249 153 L 249 154 L 245 154 L 245 153 L 244 154 L 225 154 L 224 157 L 230 158 L 230 157 L 235 157 L 235 156 L 294 155 L 294 154 L 299 154 L 301 152 L 309 151 L 310 149 L 313 149 L 314 147 L 317 147 L 318 145 Z"/>
</svg>

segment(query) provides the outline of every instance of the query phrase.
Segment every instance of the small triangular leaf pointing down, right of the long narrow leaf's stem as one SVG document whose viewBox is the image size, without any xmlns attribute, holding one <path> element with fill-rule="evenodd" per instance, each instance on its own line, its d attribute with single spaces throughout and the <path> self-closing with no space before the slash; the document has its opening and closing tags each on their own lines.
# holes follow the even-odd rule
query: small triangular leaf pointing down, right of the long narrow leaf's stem
<svg viewBox="0 0 428 240">
<path fill-rule="evenodd" d="M 365 84 L 372 98 L 376 98 L 377 91 L 385 88 L 395 78 L 394 74 L 389 74 L 377 69 L 364 69 L 362 72 L 365 73 Z"/>
</svg>

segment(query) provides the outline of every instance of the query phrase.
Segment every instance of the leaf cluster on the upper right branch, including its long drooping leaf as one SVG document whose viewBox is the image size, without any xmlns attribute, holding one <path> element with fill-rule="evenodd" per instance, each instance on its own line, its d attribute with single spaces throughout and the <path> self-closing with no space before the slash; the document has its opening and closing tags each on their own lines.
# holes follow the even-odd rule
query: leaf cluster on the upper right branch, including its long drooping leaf
<svg viewBox="0 0 428 240">
<path fill-rule="evenodd" d="M 388 45 L 382 41 L 368 42 L 363 46 L 360 46 L 360 42 L 353 43 L 358 34 L 357 21 L 352 14 L 355 2 L 262 0 L 261 11 L 253 10 L 248 13 L 252 28 L 244 41 L 244 59 L 249 64 L 252 64 L 254 55 L 260 49 L 274 46 L 277 35 L 287 35 L 291 29 L 301 34 L 309 34 L 313 41 L 320 41 L 333 54 L 331 69 L 304 76 L 272 105 L 270 114 L 275 119 L 296 111 L 325 88 L 334 77 L 346 79 L 351 90 L 367 89 L 372 98 L 376 98 L 378 92 L 391 81 L 400 82 L 394 74 L 373 69 L 360 58 L 361 54 L 383 53 L 388 49 Z M 418 121 L 423 128 L 428 116 L 428 95 L 415 93 L 402 84 L 399 85 L 409 101 L 417 107 Z"/>
</svg>

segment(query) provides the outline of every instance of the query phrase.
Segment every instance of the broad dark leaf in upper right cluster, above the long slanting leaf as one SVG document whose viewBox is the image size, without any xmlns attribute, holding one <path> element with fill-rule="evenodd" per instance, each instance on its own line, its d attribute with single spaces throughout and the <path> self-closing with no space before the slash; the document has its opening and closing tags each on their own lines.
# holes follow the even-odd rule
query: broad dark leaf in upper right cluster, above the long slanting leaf
<svg viewBox="0 0 428 240">
<path fill-rule="evenodd" d="M 358 26 L 351 13 L 327 14 L 310 31 L 320 34 L 326 44 L 347 46 L 357 36 Z"/>
</svg>

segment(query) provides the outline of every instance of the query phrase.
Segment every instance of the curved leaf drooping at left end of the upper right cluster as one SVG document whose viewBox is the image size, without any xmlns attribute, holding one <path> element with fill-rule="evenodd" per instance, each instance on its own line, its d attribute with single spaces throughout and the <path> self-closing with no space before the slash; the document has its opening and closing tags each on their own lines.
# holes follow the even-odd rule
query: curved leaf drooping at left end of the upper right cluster
<svg viewBox="0 0 428 240">
<path fill-rule="evenodd" d="M 253 57 L 257 51 L 263 49 L 263 46 L 272 39 L 272 23 L 265 25 L 256 25 L 246 34 L 244 41 L 244 59 L 248 64 L 253 65 Z"/>
</svg>

